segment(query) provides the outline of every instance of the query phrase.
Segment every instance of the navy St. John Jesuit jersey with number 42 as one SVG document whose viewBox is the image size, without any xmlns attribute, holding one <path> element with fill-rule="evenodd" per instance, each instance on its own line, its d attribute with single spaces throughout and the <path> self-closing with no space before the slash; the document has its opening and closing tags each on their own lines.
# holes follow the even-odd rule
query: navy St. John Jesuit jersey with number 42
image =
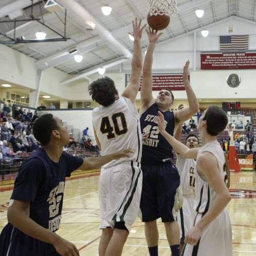
<svg viewBox="0 0 256 256">
<path fill-rule="evenodd" d="M 149 138 L 142 144 L 142 164 L 158 164 L 163 159 L 173 158 L 172 146 L 159 133 L 157 117 L 158 107 L 156 103 L 150 106 L 140 117 L 141 132 L 147 133 Z M 173 136 L 175 127 L 174 113 L 161 112 L 166 120 L 166 131 Z"/>
</svg>

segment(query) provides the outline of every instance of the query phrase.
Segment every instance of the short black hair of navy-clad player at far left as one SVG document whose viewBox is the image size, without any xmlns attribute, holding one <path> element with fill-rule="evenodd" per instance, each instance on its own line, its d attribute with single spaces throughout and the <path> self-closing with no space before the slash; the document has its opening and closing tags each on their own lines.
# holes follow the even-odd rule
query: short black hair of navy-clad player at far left
<svg viewBox="0 0 256 256">
<path fill-rule="evenodd" d="M 42 146 L 46 146 L 51 139 L 53 130 L 58 129 L 58 124 L 52 114 L 45 114 L 35 120 L 33 124 L 33 134 Z"/>
</svg>

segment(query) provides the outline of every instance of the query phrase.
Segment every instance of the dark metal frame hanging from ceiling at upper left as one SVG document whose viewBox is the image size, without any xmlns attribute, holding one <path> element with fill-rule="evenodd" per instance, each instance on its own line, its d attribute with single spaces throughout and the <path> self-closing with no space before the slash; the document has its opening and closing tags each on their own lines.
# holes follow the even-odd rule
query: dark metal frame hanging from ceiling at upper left
<svg viewBox="0 0 256 256">
<path fill-rule="evenodd" d="M 59 33 L 58 31 L 56 31 L 55 29 L 53 29 L 52 27 L 46 25 L 46 23 L 44 22 L 44 17 L 43 17 L 43 12 L 41 9 L 41 3 L 39 4 L 40 6 L 40 10 L 41 10 L 41 18 L 35 18 L 33 15 L 33 0 L 31 0 L 31 13 L 30 13 L 30 18 L 28 19 L 22 19 L 22 20 L 16 20 L 14 19 L 13 21 L 0 21 L 0 23 L 13 23 L 14 28 L 13 28 L 13 37 L 8 36 L 6 33 L 1 33 L 0 35 L 4 36 L 5 38 L 9 39 L 7 41 L 0 41 L 0 44 L 25 44 L 25 43 L 47 43 L 47 42 L 60 42 L 60 41 L 67 41 L 70 38 L 66 37 L 66 25 L 67 25 L 67 9 L 65 9 L 65 16 L 64 16 L 64 21 L 61 19 L 61 17 L 54 12 L 58 18 L 60 19 L 60 21 L 63 23 L 64 25 L 64 32 L 63 34 Z M 19 38 L 16 38 L 16 26 L 17 23 L 19 22 L 38 22 L 41 25 L 43 25 L 44 27 L 50 29 L 51 31 L 53 31 L 54 33 L 58 34 L 60 37 L 59 38 L 49 38 L 49 39 L 44 39 L 44 40 L 37 40 L 37 39 L 25 39 L 23 36 L 20 36 Z"/>
</svg>

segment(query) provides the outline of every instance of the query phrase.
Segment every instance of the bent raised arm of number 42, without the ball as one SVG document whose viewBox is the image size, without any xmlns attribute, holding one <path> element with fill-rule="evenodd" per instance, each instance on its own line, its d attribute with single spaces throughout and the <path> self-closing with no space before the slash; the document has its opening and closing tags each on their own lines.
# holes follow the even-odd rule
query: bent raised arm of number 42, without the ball
<svg viewBox="0 0 256 256">
<path fill-rule="evenodd" d="M 189 107 L 185 107 L 176 112 L 176 125 L 190 119 L 195 113 L 197 113 L 199 107 L 195 93 L 189 82 L 189 61 L 186 62 L 186 65 L 183 68 L 183 82 L 188 96 Z"/>
</svg>

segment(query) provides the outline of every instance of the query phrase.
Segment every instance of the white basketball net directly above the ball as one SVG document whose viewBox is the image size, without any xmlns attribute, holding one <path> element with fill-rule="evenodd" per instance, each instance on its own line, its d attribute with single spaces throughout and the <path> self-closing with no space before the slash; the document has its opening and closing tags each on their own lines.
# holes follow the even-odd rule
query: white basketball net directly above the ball
<svg viewBox="0 0 256 256">
<path fill-rule="evenodd" d="M 153 15 L 172 15 L 178 12 L 176 0 L 150 0 L 149 10 Z"/>
</svg>

